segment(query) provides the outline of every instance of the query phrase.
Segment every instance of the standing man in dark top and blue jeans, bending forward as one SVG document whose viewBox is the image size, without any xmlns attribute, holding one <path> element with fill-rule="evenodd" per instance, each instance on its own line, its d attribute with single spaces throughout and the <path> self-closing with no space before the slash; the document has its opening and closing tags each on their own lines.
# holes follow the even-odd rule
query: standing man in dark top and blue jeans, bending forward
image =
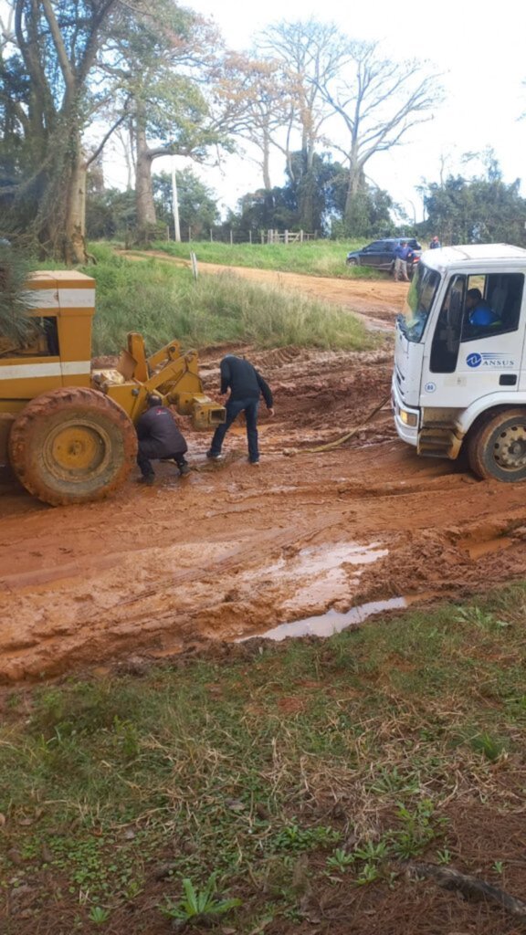
<svg viewBox="0 0 526 935">
<path fill-rule="evenodd" d="M 216 461 L 221 457 L 221 446 L 230 425 L 244 412 L 246 418 L 246 436 L 248 440 L 248 460 L 251 465 L 259 464 L 257 447 L 257 408 L 259 396 L 263 394 L 270 415 L 274 414 L 272 394 L 269 384 L 257 372 L 248 360 L 228 353 L 221 361 L 221 395 L 230 390 L 226 401 L 226 422 L 218 425 L 213 433 L 212 445 L 207 457 Z"/>
</svg>

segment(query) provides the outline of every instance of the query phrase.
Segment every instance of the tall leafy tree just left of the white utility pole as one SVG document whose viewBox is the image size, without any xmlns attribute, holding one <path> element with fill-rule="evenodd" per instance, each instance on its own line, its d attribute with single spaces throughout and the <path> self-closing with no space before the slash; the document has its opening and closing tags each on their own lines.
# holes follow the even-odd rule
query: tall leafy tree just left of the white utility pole
<svg viewBox="0 0 526 935">
<path fill-rule="evenodd" d="M 226 146 L 230 108 L 215 92 L 221 43 L 209 22 L 172 0 L 131 15 L 114 33 L 109 73 L 120 80 L 133 140 L 139 237 L 156 223 L 153 162 L 161 156 L 205 159 Z M 124 104 L 120 104 L 123 107 Z"/>
</svg>

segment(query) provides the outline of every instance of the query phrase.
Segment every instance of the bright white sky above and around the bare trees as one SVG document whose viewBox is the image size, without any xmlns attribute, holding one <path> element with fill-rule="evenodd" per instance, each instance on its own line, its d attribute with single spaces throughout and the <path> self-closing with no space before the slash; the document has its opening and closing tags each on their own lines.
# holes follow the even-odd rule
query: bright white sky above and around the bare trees
<svg viewBox="0 0 526 935">
<path fill-rule="evenodd" d="M 256 32 L 271 22 L 312 16 L 340 24 L 353 38 L 379 40 L 389 58 L 427 59 L 443 73 L 446 100 L 433 121 L 416 126 L 402 146 L 373 157 L 366 168 L 410 217 L 416 212 L 421 220 L 415 186 L 422 178 L 438 180 L 441 154 L 448 157 L 448 169 L 471 174 L 480 166 L 462 167 L 461 154 L 491 146 L 504 180 L 526 177 L 526 120 L 518 120 L 526 111 L 526 4 L 520 0 L 373 0 L 327 6 L 319 0 L 185 0 L 184 6 L 213 18 L 227 45 L 236 50 L 247 49 Z M 274 185 L 284 182 L 283 162 L 277 154 Z M 167 171 L 169 165 L 157 160 L 154 171 Z M 183 160 L 177 165 L 183 167 Z M 242 194 L 262 185 L 256 165 L 246 158 L 226 158 L 222 171 L 197 166 L 196 171 L 223 207 L 235 208 Z M 108 163 L 107 183 L 115 183 L 117 173 L 118 166 Z"/>
</svg>

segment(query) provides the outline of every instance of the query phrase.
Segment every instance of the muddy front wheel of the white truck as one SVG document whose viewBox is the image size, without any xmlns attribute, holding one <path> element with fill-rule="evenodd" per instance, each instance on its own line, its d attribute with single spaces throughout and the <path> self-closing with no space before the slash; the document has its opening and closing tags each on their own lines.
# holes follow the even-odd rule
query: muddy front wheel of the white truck
<svg viewBox="0 0 526 935">
<path fill-rule="evenodd" d="M 526 410 L 499 412 L 468 440 L 470 468 L 478 477 L 526 480 Z"/>
</svg>

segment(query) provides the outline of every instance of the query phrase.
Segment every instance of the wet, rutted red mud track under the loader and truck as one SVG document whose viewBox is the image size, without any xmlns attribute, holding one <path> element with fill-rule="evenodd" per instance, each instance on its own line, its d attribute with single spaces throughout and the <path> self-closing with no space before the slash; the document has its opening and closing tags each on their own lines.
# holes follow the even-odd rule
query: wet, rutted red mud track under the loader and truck
<svg viewBox="0 0 526 935">
<path fill-rule="evenodd" d="M 246 462 L 242 426 L 211 464 L 208 436 L 184 424 L 195 467 L 184 480 L 161 465 L 151 489 L 129 482 L 110 501 L 54 510 L 0 481 L 2 681 L 524 575 L 524 487 L 417 458 L 387 409 L 333 452 L 302 451 L 387 396 L 389 349 L 249 354 L 276 396 L 260 468 Z M 204 360 L 209 391 L 217 364 Z"/>
</svg>

